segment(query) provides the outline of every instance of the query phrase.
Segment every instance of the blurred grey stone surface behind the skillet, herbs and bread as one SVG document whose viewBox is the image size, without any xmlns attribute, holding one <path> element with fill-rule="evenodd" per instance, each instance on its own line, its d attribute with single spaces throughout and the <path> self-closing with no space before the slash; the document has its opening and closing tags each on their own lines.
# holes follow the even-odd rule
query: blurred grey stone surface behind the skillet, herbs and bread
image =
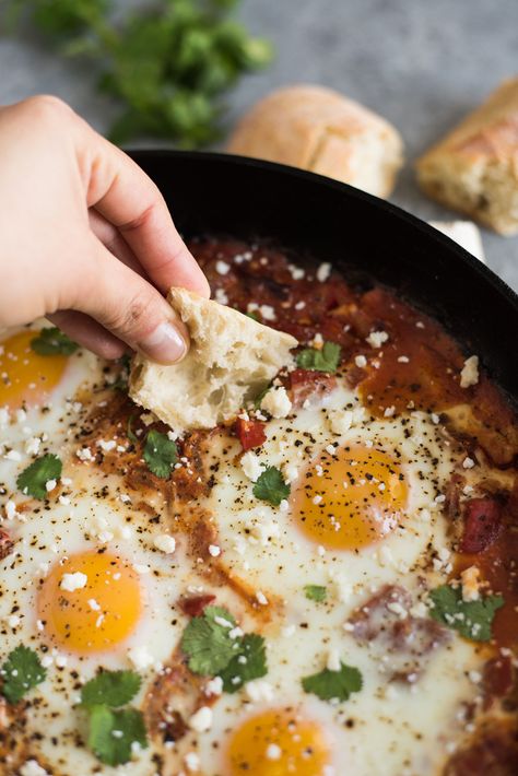
<svg viewBox="0 0 518 776">
<path fill-rule="evenodd" d="M 403 134 L 408 164 L 392 200 L 423 219 L 455 217 L 421 195 L 412 162 L 518 73 L 518 0 L 244 0 L 240 15 L 278 56 L 232 95 L 231 119 L 286 83 L 339 89 Z M 0 38 L 0 103 L 38 92 L 59 94 L 101 131 L 113 116 L 90 68 Z M 483 243 L 490 267 L 518 289 L 518 238 L 484 231 Z"/>
</svg>

